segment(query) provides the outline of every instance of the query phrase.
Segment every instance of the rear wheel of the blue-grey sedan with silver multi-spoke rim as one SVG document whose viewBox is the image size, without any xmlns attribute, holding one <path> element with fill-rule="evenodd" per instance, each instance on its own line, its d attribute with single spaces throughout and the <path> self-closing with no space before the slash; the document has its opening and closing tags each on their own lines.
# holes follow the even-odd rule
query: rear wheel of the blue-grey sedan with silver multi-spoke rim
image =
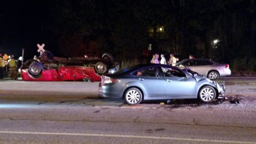
<svg viewBox="0 0 256 144">
<path fill-rule="evenodd" d="M 142 93 L 135 87 L 130 88 L 125 92 L 125 101 L 129 105 L 140 104 L 142 101 Z"/>
</svg>

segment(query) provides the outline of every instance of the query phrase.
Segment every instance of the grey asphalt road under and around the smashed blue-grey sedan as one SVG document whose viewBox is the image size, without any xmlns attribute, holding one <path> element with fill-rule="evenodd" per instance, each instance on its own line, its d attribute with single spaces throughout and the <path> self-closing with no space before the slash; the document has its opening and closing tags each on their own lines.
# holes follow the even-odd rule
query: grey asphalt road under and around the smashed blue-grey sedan
<svg viewBox="0 0 256 144">
<path fill-rule="evenodd" d="M 256 85 L 224 78 L 225 98 L 99 99 L 99 82 L 0 81 L 0 143 L 256 144 Z M 239 82 L 238 82 L 239 81 Z"/>
</svg>

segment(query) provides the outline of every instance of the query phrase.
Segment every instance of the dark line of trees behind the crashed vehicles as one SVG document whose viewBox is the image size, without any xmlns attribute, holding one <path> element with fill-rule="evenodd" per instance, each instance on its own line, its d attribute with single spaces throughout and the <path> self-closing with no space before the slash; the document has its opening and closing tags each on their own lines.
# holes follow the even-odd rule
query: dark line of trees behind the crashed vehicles
<svg viewBox="0 0 256 144">
<path fill-rule="evenodd" d="M 168 58 L 169 53 L 175 53 L 183 59 L 192 54 L 230 63 L 236 70 L 256 70 L 255 0 L 28 0 L 26 3 L 33 4 L 29 9 L 34 13 L 23 10 L 28 19 L 28 26 L 24 26 L 27 30 L 24 47 L 31 47 L 34 45 L 31 41 L 37 40 L 36 43 L 55 47 L 54 52 L 59 56 L 99 56 L 110 52 L 125 61 L 142 58 L 151 44 L 149 57 L 163 53 Z M 31 21 L 36 21 L 36 25 Z M 218 43 L 213 43 L 217 39 Z"/>
</svg>

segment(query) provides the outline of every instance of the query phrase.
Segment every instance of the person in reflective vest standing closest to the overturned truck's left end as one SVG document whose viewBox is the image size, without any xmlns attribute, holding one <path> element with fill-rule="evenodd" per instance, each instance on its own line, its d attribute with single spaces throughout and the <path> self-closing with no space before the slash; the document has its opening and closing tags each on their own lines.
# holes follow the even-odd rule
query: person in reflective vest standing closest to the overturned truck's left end
<svg viewBox="0 0 256 144">
<path fill-rule="evenodd" d="M 10 59 L 8 60 L 9 66 L 9 77 L 13 80 L 17 80 L 17 63 L 18 61 L 14 59 L 14 56 L 11 55 Z"/>
</svg>

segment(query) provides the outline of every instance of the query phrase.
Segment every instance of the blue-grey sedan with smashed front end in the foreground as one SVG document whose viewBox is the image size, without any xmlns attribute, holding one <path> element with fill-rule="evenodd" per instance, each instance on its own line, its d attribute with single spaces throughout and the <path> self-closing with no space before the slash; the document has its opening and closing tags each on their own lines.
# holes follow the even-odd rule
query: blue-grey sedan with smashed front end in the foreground
<svg viewBox="0 0 256 144">
<path fill-rule="evenodd" d="M 141 101 L 198 98 L 210 103 L 224 95 L 225 87 L 193 72 L 162 64 L 141 64 L 102 75 L 99 95 L 124 98 L 129 105 Z"/>
</svg>

